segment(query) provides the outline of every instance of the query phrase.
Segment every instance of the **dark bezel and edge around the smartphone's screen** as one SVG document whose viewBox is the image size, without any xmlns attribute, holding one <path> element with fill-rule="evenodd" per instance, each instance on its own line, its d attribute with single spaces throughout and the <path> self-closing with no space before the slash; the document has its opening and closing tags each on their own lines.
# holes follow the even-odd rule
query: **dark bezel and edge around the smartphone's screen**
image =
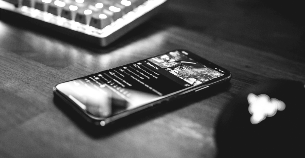
<svg viewBox="0 0 305 158">
<path fill-rule="evenodd" d="M 221 69 L 223 72 L 224 75 L 223 76 L 220 76 L 218 78 L 215 78 L 215 79 L 212 79 L 210 81 L 207 81 L 205 83 L 202 83 L 202 84 L 198 84 L 196 86 L 190 86 L 190 87 L 187 87 L 185 89 L 182 89 L 182 90 L 179 90 L 179 91 L 175 91 L 173 93 L 169 93 L 169 94 L 166 94 L 166 95 L 163 95 L 163 96 L 160 96 L 158 98 L 155 98 L 153 100 L 151 100 L 149 103 L 147 104 L 143 104 L 143 105 L 140 105 L 139 107 L 136 107 L 134 109 L 130 109 L 130 110 L 127 110 L 127 111 L 123 111 L 123 112 L 120 112 L 120 113 L 117 113 L 115 115 L 111 115 L 109 117 L 106 117 L 106 118 L 98 118 L 98 117 L 95 117 L 94 115 L 91 115 L 89 114 L 87 111 L 85 111 L 84 109 L 82 109 L 81 107 L 79 107 L 73 100 L 71 100 L 66 94 L 62 93 L 61 91 L 59 91 L 56 86 L 59 85 L 59 84 L 62 84 L 62 83 L 59 83 L 59 84 L 56 84 L 54 87 L 53 87 L 53 91 L 54 93 L 59 96 L 61 99 L 63 99 L 66 103 L 68 103 L 74 110 L 76 110 L 79 114 L 81 114 L 81 116 L 83 118 L 85 118 L 88 122 L 90 123 L 93 123 L 94 125 L 98 125 L 98 126 L 105 126 L 105 125 L 108 125 L 109 123 L 113 122 L 113 121 L 116 121 L 120 118 L 124 118 L 128 115 L 131 115 L 131 114 L 134 114 L 138 111 L 142 111 L 144 109 L 148 109 L 150 107 L 153 107 L 155 106 L 156 104 L 160 104 L 161 102 L 163 101 L 169 101 L 175 97 L 178 97 L 178 96 L 181 96 L 181 95 L 184 95 L 184 94 L 188 94 L 190 92 L 195 92 L 196 90 L 199 90 L 199 89 L 203 89 L 204 87 L 209 87 L 211 85 L 214 85 L 216 83 L 221 83 L 221 82 L 226 82 L 228 80 L 231 79 L 231 72 L 221 66 L 218 66 L 202 57 L 200 57 L 199 55 L 196 55 L 188 50 L 185 50 L 185 49 L 177 49 L 177 50 L 174 50 L 174 51 L 185 51 L 188 53 L 188 57 L 189 58 L 192 58 L 192 59 L 195 59 L 197 62 L 200 62 L 202 63 L 203 65 L 206 65 L 210 68 L 213 68 L 214 70 L 218 71 L 219 72 L 219 69 Z M 162 54 L 167 54 L 169 52 L 172 52 L 172 51 L 168 51 L 166 53 L 162 53 Z M 154 57 L 157 57 L 157 56 L 160 56 L 162 54 L 159 54 L 159 55 L 156 55 L 156 56 L 153 56 L 153 57 L 150 57 L 150 58 L 154 58 Z M 140 60 L 140 61 L 144 61 L 144 60 L 147 60 L 147 59 L 150 59 L 150 58 L 146 58 L 146 59 L 143 59 L 143 60 Z M 140 61 L 135 61 L 135 62 L 132 62 L 132 63 L 128 63 L 128 64 L 125 64 L 125 65 L 129 65 L 129 64 L 133 64 L 133 63 L 137 63 L 137 62 L 140 62 Z M 121 65 L 121 66 L 118 66 L 118 67 L 122 67 L 122 66 L 125 66 L 125 65 Z M 117 68 L 117 67 L 115 67 Z M 217 69 L 215 69 L 217 68 Z M 113 69 L 113 68 L 110 68 L 110 69 Z M 110 69 L 107 69 L 107 70 L 103 70 L 101 72 L 104 72 L 104 71 L 108 71 Z M 97 73 L 94 73 L 94 74 L 90 74 L 90 75 L 87 75 L 87 76 L 91 76 L 91 75 L 97 75 L 101 72 L 97 72 Z M 79 77 L 77 79 L 81 79 L 81 78 L 84 78 L 84 77 L 87 77 L 87 76 L 83 76 L 83 77 Z M 76 79 L 72 79 L 72 80 L 69 80 L 69 81 L 65 81 L 63 83 L 66 83 L 66 82 L 70 82 L 70 81 L 73 81 L 73 80 L 76 80 Z"/>
</svg>

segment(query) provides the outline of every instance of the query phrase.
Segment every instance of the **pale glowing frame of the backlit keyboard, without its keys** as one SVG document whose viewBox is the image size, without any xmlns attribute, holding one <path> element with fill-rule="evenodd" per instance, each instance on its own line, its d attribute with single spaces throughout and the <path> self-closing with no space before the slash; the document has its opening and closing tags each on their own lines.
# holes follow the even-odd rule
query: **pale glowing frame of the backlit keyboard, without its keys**
<svg viewBox="0 0 305 158">
<path fill-rule="evenodd" d="M 3 16 L 14 17 L 14 20 L 27 22 L 30 25 L 56 31 L 70 38 L 77 38 L 105 47 L 159 12 L 166 1 L 148 0 L 103 29 L 94 28 L 26 6 L 16 8 L 15 5 L 2 0 L 0 0 L 0 14 L 2 18 Z M 52 20 L 48 19 L 49 17 L 45 18 L 46 16 L 51 17 Z"/>
</svg>

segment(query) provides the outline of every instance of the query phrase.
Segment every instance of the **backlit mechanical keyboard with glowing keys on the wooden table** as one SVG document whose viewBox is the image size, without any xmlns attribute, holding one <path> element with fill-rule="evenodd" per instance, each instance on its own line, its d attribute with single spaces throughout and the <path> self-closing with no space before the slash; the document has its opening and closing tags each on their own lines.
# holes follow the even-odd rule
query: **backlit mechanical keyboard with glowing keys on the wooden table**
<svg viewBox="0 0 305 158">
<path fill-rule="evenodd" d="M 107 46 L 167 0 L 0 0 L 1 16 Z"/>
</svg>

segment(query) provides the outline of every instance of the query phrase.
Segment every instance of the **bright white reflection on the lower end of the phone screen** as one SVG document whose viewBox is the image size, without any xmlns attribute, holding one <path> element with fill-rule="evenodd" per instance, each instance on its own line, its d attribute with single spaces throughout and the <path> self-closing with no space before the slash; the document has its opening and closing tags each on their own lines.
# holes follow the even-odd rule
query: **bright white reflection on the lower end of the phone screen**
<svg viewBox="0 0 305 158">
<path fill-rule="evenodd" d="M 120 89 L 117 90 L 106 83 L 98 86 L 86 79 L 62 83 L 56 88 L 66 94 L 85 112 L 101 118 L 139 107 L 159 97 L 155 94 L 132 89 L 120 91 Z"/>
</svg>

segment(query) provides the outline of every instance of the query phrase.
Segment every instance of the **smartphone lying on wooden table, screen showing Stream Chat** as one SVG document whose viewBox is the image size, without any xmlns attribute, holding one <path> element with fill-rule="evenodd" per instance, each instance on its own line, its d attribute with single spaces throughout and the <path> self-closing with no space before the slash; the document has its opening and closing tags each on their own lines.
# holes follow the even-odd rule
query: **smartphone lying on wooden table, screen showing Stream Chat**
<svg viewBox="0 0 305 158">
<path fill-rule="evenodd" d="M 228 70 L 178 49 L 59 83 L 53 91 L 89 123 L 106 126 L 230 79 Z"/>
</svg>

